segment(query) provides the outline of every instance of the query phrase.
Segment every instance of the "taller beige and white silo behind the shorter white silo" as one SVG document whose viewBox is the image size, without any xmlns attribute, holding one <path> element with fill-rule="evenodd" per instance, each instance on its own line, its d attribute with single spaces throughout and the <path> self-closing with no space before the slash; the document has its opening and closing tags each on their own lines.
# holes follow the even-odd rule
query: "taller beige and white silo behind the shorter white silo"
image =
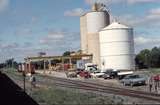
<svg viewBox="0 0 160 105">
<path fill-rule="evenodd" d="M 82 53 L 93 54 L 93 63 L 100 66 L 99 31 L 109 25 L 110 16 L 103 4 L 95 3 L 92 11 L 80 17 Z"/>
</svg>

